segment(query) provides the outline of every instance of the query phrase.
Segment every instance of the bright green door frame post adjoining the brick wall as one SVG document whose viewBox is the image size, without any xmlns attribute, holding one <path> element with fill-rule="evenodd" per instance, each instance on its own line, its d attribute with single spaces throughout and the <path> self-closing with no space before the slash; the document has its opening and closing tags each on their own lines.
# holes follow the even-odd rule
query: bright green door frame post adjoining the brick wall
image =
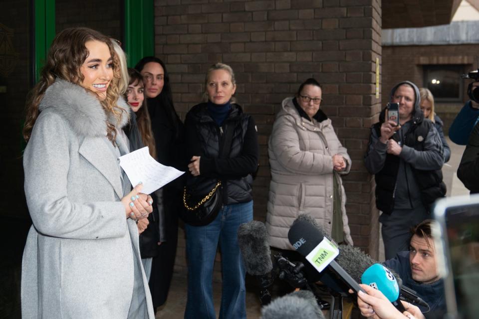
<svg viewBox="0 0 479 319">
<path fill-rule="evenodd" d="M 155 54 L 154 10 L 153 0 L 125 0 L 123 49 L 129 67 L 134 67 L 142 57 Z"/>
</svg>

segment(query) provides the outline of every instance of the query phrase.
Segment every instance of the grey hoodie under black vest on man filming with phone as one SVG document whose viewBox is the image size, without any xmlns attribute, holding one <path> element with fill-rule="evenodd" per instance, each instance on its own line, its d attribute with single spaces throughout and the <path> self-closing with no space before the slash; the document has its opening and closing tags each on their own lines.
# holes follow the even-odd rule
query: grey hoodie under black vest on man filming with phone
<svg viewBox="0 0 479 319">
<path fill-rule="evenodd" d="M 404 123 L 401 129 L 396 132 L 399 138 L 398 144 L 402 147 L 402 151 L 399 155 L 400 161 L 394 193 L 394 209 L 413 209 L 422 205 L 422 201 L 416 177 L 411 167 L 421 170 L 441 169 L 444 163 L 443 145 L 434 125 L 431 125 L 431 129 L 425 138 L 424 151 L 416 151 L 414 148 L 404 145 L 405 135 L 411 126 L 429 120 L 424 119 L 424 114 L 421 112 L 419 89 L 414 83 L 402 81 L 396 84 L 391 90 L 390 100 L 396 92 L 396 89 L 403 84 L 408 84 L 414 89 L 416 101 L 411 114 L 411 120 Z M 383 109 L 379 115 L 379 122 L 383 123 L 384 118 L 385 109 Z M 366 168 L 371 174 L 378 173 L 384 167 L 386 149 L 387 145 L 379 141 L 376 130 L 372 128 L 368 150 L 364 159 Z"/>
</svg>

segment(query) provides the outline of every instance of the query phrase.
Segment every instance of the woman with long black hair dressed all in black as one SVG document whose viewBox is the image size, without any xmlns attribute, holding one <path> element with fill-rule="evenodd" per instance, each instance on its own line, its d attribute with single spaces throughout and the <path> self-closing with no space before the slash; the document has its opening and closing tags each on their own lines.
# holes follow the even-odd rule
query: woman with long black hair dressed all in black
<svg viewBox="0 0 479 319">
<path fill-rule="evenodd" d="M 145 96 L 156 145 L 156 159 L 163 165 L 184 170 L 183 123 L 175 111 L 168 71 L 162 60 L 154 56 L 142 58 L 135 66 L 145 85 Z M 159 242 L 158 256 L 153 258 L 150 290 L 153 307 L 162 306 L 168 297 L 178 243 L 178 211 L 181 209 L 183 178 L 165 185 L 165 239 Z"/>
</svg>

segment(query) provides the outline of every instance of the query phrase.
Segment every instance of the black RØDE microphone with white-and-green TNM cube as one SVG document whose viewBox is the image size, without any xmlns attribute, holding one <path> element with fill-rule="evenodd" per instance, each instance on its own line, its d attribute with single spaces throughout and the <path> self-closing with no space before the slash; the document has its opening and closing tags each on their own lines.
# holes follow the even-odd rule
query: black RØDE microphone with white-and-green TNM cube
<svg viewBox="0 0 479 319">
<path fill-rule="evenodd" d="M 323 233 L 306 220 L 296 220 L 288 232 L 291 245 L 320 273 L 324 268 L 332 270 L 354 292 L 366 293 L 359 284 L 334 260 L 339 251 L 324 238 Z"/>
</svg>

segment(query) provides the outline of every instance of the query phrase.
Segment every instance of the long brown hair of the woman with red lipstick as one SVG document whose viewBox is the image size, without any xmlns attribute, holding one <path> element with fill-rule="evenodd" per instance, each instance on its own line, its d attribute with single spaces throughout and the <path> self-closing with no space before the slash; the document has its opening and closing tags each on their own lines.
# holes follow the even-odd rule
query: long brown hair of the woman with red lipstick
<svg viewBox="0 0 479 319">
<path fill-rule="evenodd" d="M 141 76 L 140 72 L 133 68 L 128 68 L 128 77 L 129 82 L 128 85 L 137 85 L 141 83 L 143 85 L 143 77 Z M 128 90 L 125 93 L 125 100 L 128 101 Z M 148 105 L 146 103 L 146 97 L 143 100 L 143 104 L 141 107 L 136 111 L 136 124 L 138 125 L 138 130 L 141 134 L 141 140 L 145 146 L 148 147 L 150 151 L 150 155 L 152 158 L 156 160 L 156 146 L 155 146 L 155 137 L 153 136 L 153 132 L 151 130 L 151 120 L 150 120 L 150 113 L 148 112 Z"/>
</svg>

